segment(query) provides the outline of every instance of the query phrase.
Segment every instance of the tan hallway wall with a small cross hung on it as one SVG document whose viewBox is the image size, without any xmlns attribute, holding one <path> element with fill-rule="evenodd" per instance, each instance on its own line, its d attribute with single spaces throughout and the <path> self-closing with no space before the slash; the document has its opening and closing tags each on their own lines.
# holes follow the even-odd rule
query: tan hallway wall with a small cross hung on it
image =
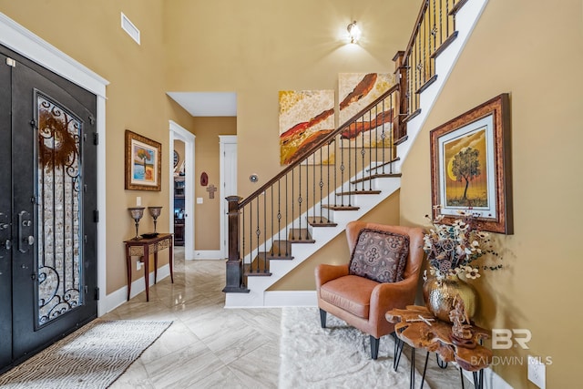
<svg viewBox="0 0 583 389">
<path fill-rule="evenodd" d="M 226 200 L 220 191 L 220 135 L 237 135 L 237 118 L 193 118 L 195 142 L 194 194 L 202 198 L 195 201 L 195 250 L 220 250 L 220 202 Z M 206 172 L 209 185 L 200 185 L 200 175 Z M 207 191 L 210 184 L 217 188 L 214 199 Z M 197 259 L 202 259 L 197 256 Z"/>
</svg>

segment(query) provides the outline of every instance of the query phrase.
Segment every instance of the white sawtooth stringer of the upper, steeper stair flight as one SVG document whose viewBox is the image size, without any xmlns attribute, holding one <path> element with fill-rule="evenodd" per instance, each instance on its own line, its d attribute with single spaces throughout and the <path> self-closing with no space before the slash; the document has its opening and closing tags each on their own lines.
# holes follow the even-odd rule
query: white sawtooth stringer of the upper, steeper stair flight
<svg viewBox="0 0 583 389">
<path fill-rule="evenodd" d="M 434 107 L 435 101 L 443 87 L 447 78 L 455 67 L 455 62 L 464 50 L 467 39 L 474 30 L 477 21 L 486 8 L 488 0 L 469 0 L 464 6 L 457 11 L 455 15 L 455 30 L 458 32 L 457 37 L 447 46 L 443 52 L 435 58 L 435 74 L 437 79 L 419 96 L 419 107 L 421 113 L 407 122 L 407 140 L 397 146 L 396 155 L 399 160 L 395 162 L 396 171 L 401 171 L 401 166 L 409 154 L 411 146 L 414 144 L 414 139 L 417 138 L 421 128 L 423 128 L 425 120 Z M 462 112 L 459 112 L 461 114 Z"/>
</svg>

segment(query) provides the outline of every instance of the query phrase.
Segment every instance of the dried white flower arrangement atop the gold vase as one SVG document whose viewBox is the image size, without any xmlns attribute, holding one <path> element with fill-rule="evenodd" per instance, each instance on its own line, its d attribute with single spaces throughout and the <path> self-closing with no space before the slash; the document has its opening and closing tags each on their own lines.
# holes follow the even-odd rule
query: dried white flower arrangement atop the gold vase
<svg viewBox="0 0 583 389">
<path fill-rule="evenodd" d="M 431 265 L 430 273 L 437 279 L 464 274 L 466 278 L 476 280 L 480 277 L 480 269 L 495 271 L 502 268 L 501 264 L 479 266 L 475 263 L 483 255 L 492 254 L 498 258 L 499 255 L 492 250 L 490 234 L 477 226 L 479 213 L 472 210 L 461 210 L 458 213 L 461 218 L 452 224 L 443 223 L 443 215 L 435 219 L 425 215 L 432 224 L 429 232 L 424 234 L 423 247 Z"/>
</svg>

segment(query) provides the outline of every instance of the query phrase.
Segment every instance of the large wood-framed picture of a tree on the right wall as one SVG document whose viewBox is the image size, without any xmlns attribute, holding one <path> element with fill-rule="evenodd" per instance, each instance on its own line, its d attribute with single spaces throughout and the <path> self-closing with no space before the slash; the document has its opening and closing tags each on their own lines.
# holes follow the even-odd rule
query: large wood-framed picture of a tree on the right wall
<svg viewBox="0 0 583 389">
<path fill-rule="evenodd" d="M 470 211 L 482 230 L 512 234 L 509 95 L 434 128 L 430 137 L 434 218 L 452 222 Z"/>
</svg>

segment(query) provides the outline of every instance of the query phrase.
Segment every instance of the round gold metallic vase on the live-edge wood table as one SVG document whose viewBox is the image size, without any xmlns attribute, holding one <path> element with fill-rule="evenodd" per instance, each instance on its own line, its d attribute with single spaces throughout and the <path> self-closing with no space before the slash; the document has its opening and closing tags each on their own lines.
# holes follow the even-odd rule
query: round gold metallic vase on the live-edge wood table
<svg viewBox="0 0 583 389">
<path fill-rule="evenodd" d="M 472 318 L 477 309 L 477 292 L 472 285 L 460 280 L 456 275 L 445 279 L 432 277 L 423 284 L 425 306 L 441 321 L 451 322 L 449 312 L 455 308 L 455 296 L 461 297 L 465 312 Z"/>
</svg>

